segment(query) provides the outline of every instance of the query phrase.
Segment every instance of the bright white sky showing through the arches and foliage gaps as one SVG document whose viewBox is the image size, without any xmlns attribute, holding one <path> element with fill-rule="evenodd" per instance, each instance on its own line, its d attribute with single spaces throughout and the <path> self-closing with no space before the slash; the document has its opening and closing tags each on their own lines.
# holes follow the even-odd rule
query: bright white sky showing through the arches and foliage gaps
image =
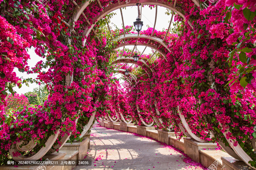
<svg viewBox="0 0 256 170">
<path fill-rule="evenodd" d="M 155 29 L 158 31 L 162 31 L 163 29 L 168 29 L 169 22 L 171 19 L 171 14 L 168 16 L 165 14 L 166 8 L 158 6 L 157 9 L 157 20 L 156 20 L 156 26 Z M 122 29 L 122 19 L 121 19 L 121 13 L 120 9 L 117 9 L 113 11 L 116 13 L 116 15 L 113 16 L 111 19 L 110 27 L 112 27 L 112 23 L 117 25 L 118 28 Z M 123 12 L 123 19 L 124 19 L 124 25 L 133 25 L 133 22 L 136 21 L 136 18 L 138 16 L 138 8 L 137 6 L 132 6 L 132 7 L 126 7 L 122 9 Z M 141 10 L 142 16 L 141 16 L 141 21 L 143 21 L 143 27 L 142 30 L 146 30 L 148 27 L 154 27 L 154 21 L 155 21 L 155 14 L 156 14 L 156 8 L 152 8 L 152 10 L 148 6 L 144 6 Z M 173 25 L 172 25 L 173 26 Z M 171 27 L 172 27 L 171 26 Z M 113 29 L 115 29 L 113 27 Z M 125 46 L 126 48 L 133 49 L 134 46 Z M 122 47 L 123 48 L 123 47 Z M 145 46 L 137 46 L 137 51 L 142 52 L 144 50 Z M 144 54 L 149 54 L 151 52 L 151 48 L 147 47 L 146 50 L 144 51 Z M 29 49 L 28 54 L 30 55 L 30 58 L 28 60 L 28 66 L 34 67 L 36 63 L 40 60 L 45 61 L 45 59 L 39 57 L 35 52 L 34 49 Z M 16 72 L 16 75 L 18 77 L 23 77 L 23 78 L 35 78 L 37 77 L 37 74 L 29 74 L 27 75 L 26 73 L 21 73 L 18 71 L 18 69 L 14 70 Z M 121 74 L 115 75 L 116 78 L 120 78 Z M 120 82 L 123 82 L 121 80 Z M 26 92 L 32 91 L 33 88 L 38 87 L 36 83 L 30 84 L 29 87 L 27 87 L 25 84 L 22 84 L 22 87 L 19 89 L 18 87 L 14 87 L 13 89 L 18 93 L 18 94 L 24 94 Z"/>
</svg>

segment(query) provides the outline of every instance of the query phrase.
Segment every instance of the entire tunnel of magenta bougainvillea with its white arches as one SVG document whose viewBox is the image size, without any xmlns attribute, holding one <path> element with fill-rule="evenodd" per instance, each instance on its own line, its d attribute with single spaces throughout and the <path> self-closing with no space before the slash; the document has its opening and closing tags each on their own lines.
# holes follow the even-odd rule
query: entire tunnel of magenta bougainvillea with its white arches
<svg viewBox="0 0 256 170">
<path fill-rule="evenodd" d="M 0 3 L 1 165 L 38 160 L 81 140 L 96 120 L 108 120 L 218 143 L 256 169 L 254 1 Z M 122 9 L 132 6 L 138 16 L 142 7 L 155 8 L 154 27 L 137 33 L 125 26 Z M 155 29 L 160 6 L 172 11 L 163 31 Z M 122 29 L 109 26 L 117 9 Z M 28 65 L 32 47 L 42 58 L 36 65 Z M 20 78 L 15 69 L 38 76 Z M 28 82 L 46 84 L 47 100 L 7 110 L 8 93 Z"/>
</svg>

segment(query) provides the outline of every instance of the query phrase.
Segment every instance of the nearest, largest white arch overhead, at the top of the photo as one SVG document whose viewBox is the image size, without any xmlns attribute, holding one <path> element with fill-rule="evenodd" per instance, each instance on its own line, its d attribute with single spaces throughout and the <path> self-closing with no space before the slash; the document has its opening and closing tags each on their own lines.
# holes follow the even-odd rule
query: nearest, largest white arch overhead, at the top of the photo
<svg viewBox="0 0 256 170">
<path fill-rule="evenodd" d="M 197 0 L 192 0 L 192 1 L 195 3 L 195 5 L 199 6 L 199 3 L 198 3 Z M 112 12 L 112 11 L 114 11 L 114 10 L 117 10 L 117 9 L 119 9 L 119 8 L 134 6 L 134 4 L 136 4 L 137 2 L 138 2 L 137 0 L 130 0 L 130 3 L 127 3 L 126 1 L 122 1 L 122 2 L 118 1 L 118 3 L 111 4 L 111 5 L 109 5 L 108 7 L 104 8 L 104 9 L 100 12 L 100 14 L 99 14 L 98 16 L 96 16 L 96 17 L 94 17 L 94 18 L 92 19 L 92 22 L 93 22 L 94 24 L 92 24 L 92 25 L 87 25 L 87 26 L 86 26 L 86 28 L 84 29 L 83 35 L 85 35 L 85 36 L 87 37 L 87 36 L 89 35 L 90 31 L 93 29 L 93 27 L 94 27 L 94 25 L 95 25 L 95 22 L 101 20 L 104 16 L 106 16 L 106 15 L 109 14 L 110 12 Z M 174 7 L 174 4 L 171 4 L 171 3 L 167 2 L 167 1 L 164 1 L 164 0 L 161 0 L 161 1 L 156 1 L 156 0 L 140 0 L 140 3 L 141 3 L 141 5 L 158 5 L 158 6 L 162 6 L 162 7 L 168 8 L 168 9 L 170 9 L 170 10 L 176 12 L 176 13 L 179 14 L 182 18 L 185 19 L 184 14 L 183 14 L 182 12 L 180 12 L 177 7 Z M 85 6 L 86 6 L 86 5 L 84 5 L 84 4 L 82 5 L 82 7 L 83 7 L 84 9 L 86 8 Z M 87 5 L 87 6 L 88 6 L 88 5 Z M 80 8 L 80 9 L 82 10 L 82 8 Z M 79 11 L 79 12 L 80 12 L 80 11 Z M 81 13 L 82 13 L 82 12 L 81 12 Z M 80 15 L 79 15 L 79 13 L 77 13 L 77 14 L 75 14 L 74 16 L 76 16 L 75 19 L 77 19 L 77 17 L 79 18 Z M 74 22 L 75 22 L 75 21 L 74 21 Z M 191 26 L 191 27 L 193 27 L 193 26 Z M 83 43 L 85 44 L 85 42 L 86 42 L 86 39 L 84 40 Z"/>
</svg>

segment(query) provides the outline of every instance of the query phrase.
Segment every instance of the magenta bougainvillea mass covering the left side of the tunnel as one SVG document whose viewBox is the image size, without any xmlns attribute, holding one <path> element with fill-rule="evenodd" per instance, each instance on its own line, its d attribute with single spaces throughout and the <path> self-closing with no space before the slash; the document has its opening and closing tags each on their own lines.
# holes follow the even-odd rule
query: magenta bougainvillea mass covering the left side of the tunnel
<svg viewBox="0 0 256 170">
<path fill-rule="evenodd" d="M 45 147 L 46 140 L 57 129 L 60 129 L 60 135 L 53 147 L 61 144 L 59 141 L 65 134 L 72 133 L 73 139 L 79 137 L 83 130 L 80 127 L 88 122 L 94 106 L 97 108 L 96 116 L 106 114 L 111 48 L 97 39 L 95 41 L 91 35 L 84 37 L 81 22 L 74 23 L 74 31 L 69 32 L 61 20 L 68 20 L 72 16 L 73 11 L 70 9 L 74 9 L 73 3 L 0 1 L 0 4 L 1 11 L 7 11 L 6 15 L 10 15 L 7 19 L 0 16 L 1 165 L 10 158 L 8 149 L 15 142 L 27 140 L 37 143 L 27 152 L 11 153 L 13 158 L 20 154 L 29 157 Z M 70 12 L 63 12 L 64 8 Z M 82 42 L 85 38 L 89 43 L 84 46 Z M 67 44 L 67 39 L 71 41 L 70 44 Z M 29 68 L 26 66 L 29 59 L 26 48 L 31 46 L 36 48 L 36 54 L 47 61 L 38 61 Z M 15 67 L 19 71 L 39 75 L 34 80 L 21 81 L 13 72 Z M 42 68 L 49 69 L 42 71 Z M 20 88 L 22 83 L 27 85 L 28 81 L 38 84 L 44 82 L 49 90 L 47 100 L 43 106 L 24 107 L 7 115 L 3 109 L 7 105 L 6 91 L 14 94 L 14 86 Z"/>
</svg>

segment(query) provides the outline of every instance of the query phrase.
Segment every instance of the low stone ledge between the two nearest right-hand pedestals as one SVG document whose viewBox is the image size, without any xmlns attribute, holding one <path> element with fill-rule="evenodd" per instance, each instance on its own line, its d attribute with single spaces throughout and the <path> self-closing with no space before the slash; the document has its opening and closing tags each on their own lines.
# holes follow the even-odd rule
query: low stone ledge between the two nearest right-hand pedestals
<svg viewBox="0 0 256 170">
<path fill-rule="evenodd" d="M 223 152 L 221 150 L 199 150 L 199 154 L 200 154 L 200 162 L 205 166 L 205 167 L 210 167 L 212 164 L 214 164 L 214 162 L 218 161 L 220 162 L 220 164 L 218 164 L 216 166 L 216 170 L 223 170 L 223 164 L 222 164 L 222 160 L 221 157 L 222 156 L 227 156 L 229 157 L 230 155 L 226 152 Z M 216 163 L 215 163 L 216 164 Z M 214 165 L 215 165 L 214 164 Z"/>
</svg>

